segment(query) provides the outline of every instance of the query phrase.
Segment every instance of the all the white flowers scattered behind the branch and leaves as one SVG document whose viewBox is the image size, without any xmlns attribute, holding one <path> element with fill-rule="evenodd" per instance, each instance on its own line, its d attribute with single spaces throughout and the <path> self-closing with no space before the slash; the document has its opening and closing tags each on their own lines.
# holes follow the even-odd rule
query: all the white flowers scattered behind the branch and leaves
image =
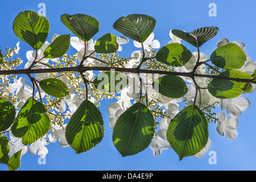
<svg viewBox="0 0 256 182">
<path fill-rule="evenodd" d="M 53 35 L 51 42 L 57 38 L 57 34 Z M 170 31 L 170 43 L 180 43 L 181 39 L 177 38 L 175 35 L 173 35 Z M 122 51 L 121 44 L 128 43 L 129 40 L 124 37 L 117 37 L 117 43 L 119 44 L 118 51 Z M 136 41 L 133 42 L 135 47 L 141 48 L 142 44 L 138 43 Z M 229 40 L 227 39 L 221 39 L 217 43 L 217 47 L 222 46 L 226 43 L 229 43 Z M 245 44 L 241 42 L 234 42 L 240 46 L 243 51 L 245 49 Z M 94 40 L 90 40 L 89 42 L 86 42 L 86 55 L 90 55 L 88 59 L 84 61 L 84 65 L 90 65 L 90 66 L 105 66 L 104 60 L 98 61 L 97 59 L 92 59 L 92 57 L 96 57 L 96 53 L 93 53 L 94 51 Z M 17 44 L 18 45 L 18 44 Z M 38 55 L 36 57 L 35 51 L 28 51 L 27 52 L 27 60 L 28 62 L 24 66 L 24 68 L 30 67 L 32 64 L 32 61 L 35 60 L 41 60 L 40 63 L 42 64 L 36 64 L 32 69 L 34 68 L 46 68 L 48 61 L 52 61 L 53 63 L 59 63 L 60 59 L 45 59 L 43 57 L 44 49 L 49 45 L 48 42 L 46 42 L 42 48 L 38 51 Z M 82 40 L 80 40 L 77 37 L 71 37 L 71 46 L 76 49 L 77 51 L 77 60 L 79 63 L 82 60 L 82 57 L 85 53 L 85 44 Z M 158 40 L 154 39 L 154 33 L 152 33 L 148 39 L 143 43 L 144 47 L 144 54 L 146 57 L 150 57 L 152 55 L 152 49 L 158 49 L 160 48 L 160 43 Z M 152 48 L 152 49 L 151 49 Z M 17 48 L 19 49 L 19 47 Z M 18 51 L 17 51 L 18 52 Z M 246 53 L 246 52 L 245 52 Z M 126 68 L 135 68 L 141 63 L 142 60 L 142 51 L 134 51 L 131 53 L 131 59 L 125 64 Z M 198 57 L 198 52 L 193 52 L 191 60 L 188 61 L 187 64 L 185 64 L 183 67 L 174 68 L 174 71 L 177 72 L 190 72 L 192 71 L 193 67 L 196 64 L 196 60 Z M 251 61 L 250 57 L 247 55 L 246 63 L 243 65 L 243 67 L 240 69 L 240 71 L 253 74 L 254 70 L 256 69 L 256 63 L 255 61 Z M 207 60 L 207 55 L 205 53 L 200 52 L 200 61 Z M 143 65 L 146 65 L 147 61 L 145 61 Z M 200 67 L 197 68 L 196 73 L 205 74 L 208 75 L 209 72 L 207 69 L 205 69 L 204 64 L 200 65 Z M 93 78 L 93 72 L 86 72 L 86 77 L 88 80 L 92 80 Z M 129 74 L 128 77 L 136 77 L 135 74 Z M 38 81 L 46 79 L 51 77 L 48 73 L 40 73 L 36 74 L 36 79 Z M 181 102 L 180 99 L 172 99 L 165 96 L 162 96 L 160 93 L 156 92 L 152 88 L 152 81 L 154 79 L 152 76 L 147 76 L 145 78 L 145 75 L 141 75 L 141 77 L 144 77 L 142 80 L 146 80 L 147 87 L 143 88 L 143 92 L 147 92 L 148 100 L 154 100 L 158 102 L 158 104 L 164 108 L 164 117 L 160 119 L 159 121 L 159 131 L 155 134 L 154 138 L 152 139 L 152 142 L 150 144 L 150 148 L 153 151 L 153 154 L 155 156 L 158 156 L 161 154 L 162 150 L 166 150 L 170 148 L 170 144 L 167 141 L 166 133 L 168 129 L 168 125 L 175 117 L 177 113 L 179 113 L 180 105 L 179 102 Z M 1 77 L 0 77 L 1 78 Z M 187 82 L 188 92 L 185 95 L 186 98 L 188 98 L 188 104 L 193 104 L 195 100 L 195 94 L 196 94 L 196 86 L 193 83 L 193 81 L 190 78 L 182 77 L 184 81 Z M 85 100 L 86 93 L 76 93 L 75 86 L 69 82 L 67 77 L 60 77 L 61 80 L 65 82 L 65 84 L 68 86 L 69 89 L 69 96 L 64 97 L 63 100 L 60 101 L 59 105 L 55 106 L 54 109 L 57 112 L 64 113 L 66 112 L 69 117 L 76 111 L 76 109 L 79 107 L 81 102 Z M 136 80 L 136 79 L 135 79 Z M 207 87 L 209 78 L 203 78 L 203 77 L 196 77 L 195 78 L 197 85 L 199 85 L 201 88 Z M 18 80 L 16 80 L 13 84 L 10 84 L 9 86 L 6 86 L 4 83 L 0 84 L 0 89 L 2 91 L 7 90 L 9 93 L 15 94 L 15 96 L 18 98 L 15 108 L 18 110 L 20 109 L 24 103 L 27 101 L 28 98 L 32 97 L 32 88 L 30 85 L 25 84 L 26 78 L 20 77 Z M 82 84 L 82 80 L 80 80 L 80 84 Z M 117 118 L 119 115 L 121 115 L 125 110 L 127 110 L 133 103 L 134 98 L 137 98 L 139 96 L 138 90 L 136 88 L 139 88 L 139 81 L 135 81 L 133 84 L 129 84 L 127 88 L 123 89 L 120 93 L 120 96 L 118 97 L 119 100 L 117 102 L 114 102 L 109 105 L 108 107 L 108 113 L 109 113 L 109 124 L 112 129 L 114 129 L 115 122 L 117 121 Z M 253 85 L 253 89 L 251 92 L 254 92 L 256 89 L 255 84 Z M 42 89 L 40 89 L 40 93 L 42 98 L 46 97 L 46 93 L 43 92 Z M 216 115 L 218 119 L 217 124 L 217 133 L 220 135 L 224 135 L 228 139 L 235 139 L 237 138 L 237 130 L 236 127 L 238 126 L 238 118 L 240 118 L 240 115 L 242 114 L 242 111 L 246 110 L 250 107 L 250 101 L 245 97 L 238 97 L 233 98 L 229 100 L 225 99 L 218 99 L 213 97 L 209 92 L 208 89 L 202 89 L 201 90 L 201 99 L 199 101 L 199 96 L 196 97 L 195 103 L 197 105 L 206 106 L 206 105 L 220 105 L 222 111 L 226 111 L 226 113 L 229 115 L 228 118 L 226 118 L 226 114 L 224 112 L 218 113 Z M 39 93 L 37 92 L 35 94 L 35 98 L 39 100 Z M 91 97 L 91 93 L 89 90 L 89 100 L 94 101 L 94 98 Z M 67 140 L 65 140 L 65 126 L 66 125 L 56 125 L 52 124 L 52 132 L 45 135 L 43 138 L 40 138 L 36 142 L 32 143 L 30 146 L 23 146 L 21 139 L 15 138 L 10 133 L 10 152 L 9 155 L 15 154 L 15 152 L 19 151 L 20 149 L 23 150 L 22 155 L 24 155 L 27 150 L 30 152 L 30 154 L 38 154 L 42 158 L 47 155 L 47 145 L 52 142 L 56 142 L 59 140 L 60 145 L 62 147 L 69 147 L 69 144 L 67 143 Z M 47 139 L 48 138 L 48 139 Z M 208 140 L 207 146 L 199 152 L 199 154 L 194 155 L 195 158 L 201 158 L 209 149 L 211 144 L 210 139 Z"/>
</svg>

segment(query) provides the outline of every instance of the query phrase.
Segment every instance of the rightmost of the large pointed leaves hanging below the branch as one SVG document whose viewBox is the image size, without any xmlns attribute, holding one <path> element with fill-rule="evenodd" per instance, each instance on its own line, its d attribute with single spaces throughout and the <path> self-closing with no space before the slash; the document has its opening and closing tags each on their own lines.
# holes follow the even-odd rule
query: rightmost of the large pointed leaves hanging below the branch
<svg viewBox="0 0 256 182">
<path fill-rule="evenodd" d="M 181 110 L 170 122 L 167 140 L 180 160 L 200 152 L 208 141 L 208 122 L 196 105 Z"/>
</svg>

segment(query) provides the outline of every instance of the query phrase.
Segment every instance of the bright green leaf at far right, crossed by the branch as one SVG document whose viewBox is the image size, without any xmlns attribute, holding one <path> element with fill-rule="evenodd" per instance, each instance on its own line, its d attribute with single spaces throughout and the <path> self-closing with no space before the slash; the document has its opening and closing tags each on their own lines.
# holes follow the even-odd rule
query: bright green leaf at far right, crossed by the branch
<svg viewBox="0 0 256 182">
<path fill-rule="evenodd" d="M 220 73 L 218 76 L 251 79 L 250 75 L 236 70 L 225 71 Z M 212 81 L 210 81 L 208 84 L 209 93 L 214 97 L 222 99 L 238 97 L 243 92 L 248 91 L 249 87 L 250 84 L 246 82 L 224 80 L 221 78 L 213 78 Z"/>
</svg>

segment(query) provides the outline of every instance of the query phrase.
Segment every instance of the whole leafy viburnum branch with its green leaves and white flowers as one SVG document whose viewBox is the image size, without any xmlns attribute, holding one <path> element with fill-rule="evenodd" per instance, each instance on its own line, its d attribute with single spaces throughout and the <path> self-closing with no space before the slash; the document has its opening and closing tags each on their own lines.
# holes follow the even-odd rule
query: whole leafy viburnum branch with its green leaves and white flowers
<svg viewBox="0 0 256 182">
<path fill-rule="evenodd" d="M 105 133 L 98 109 L 105 98 L 118 100 L 108 113 L 113 144 L 122 156 L 150 146 L 154 155 L 171 147 L 180 160 L 200 158 L 209 149 L 210 122 L 226 138 L 237 137 L 238 118 L 250 106 L 241 95 L 253 92 L 256 83 L 255 61 L 243 43 L 221 39 L 207 59 L 200 47 L 217 34 L 217 27 L 171 30 L 172 40 L 160 47 L 153 40 L 156 20 L 148 15 L 117 19 L 113 27 L 123 36 L 107 33 L 95 42 L 100 23 L 92 16 L 64 14 L 61 22 L 76 36 L 55 34 L 48 43 L 48 20 L 22 11 L 13 30 L 34 51 L 27 52 L 24 69 L 15 69 L 20 58 L 8 60 L 19 44 L 0 52 L 0 163 L 9 170 L 19 168 L 27 150 L 46 156 L 49 142 L 59 140 L 76 154 L 97 146 Z M 118 51 L 128 38 L 141 51 L 121 57 Z M 181 40 L 197 51 L 189 51 Z M 74 55 L 66 54 L 70 46 L 77 49 Z M 32 86 L 17 75 L 26 75 Z M 181 110 L 179 103 L 184 104 Z M 214 113 L 217 106 L 230 117 Z"/>
</svg>

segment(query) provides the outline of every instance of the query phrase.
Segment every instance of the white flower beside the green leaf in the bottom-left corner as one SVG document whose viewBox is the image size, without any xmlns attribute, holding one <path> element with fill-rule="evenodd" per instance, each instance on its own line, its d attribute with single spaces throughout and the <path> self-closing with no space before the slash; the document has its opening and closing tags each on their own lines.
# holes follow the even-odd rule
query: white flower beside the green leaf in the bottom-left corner
<svg viewBox="0 0 256 182">
<path fill-rule="evenodd" d="M 9 154 L 10 156 L 14 155 L 16 152 L 22 149 L 22 155 L 26 154 L 27 146 L 24 146 L 21 138 L 14 137 L 13 133 L 10 132 L 9 145 Z"/>
</svg>

